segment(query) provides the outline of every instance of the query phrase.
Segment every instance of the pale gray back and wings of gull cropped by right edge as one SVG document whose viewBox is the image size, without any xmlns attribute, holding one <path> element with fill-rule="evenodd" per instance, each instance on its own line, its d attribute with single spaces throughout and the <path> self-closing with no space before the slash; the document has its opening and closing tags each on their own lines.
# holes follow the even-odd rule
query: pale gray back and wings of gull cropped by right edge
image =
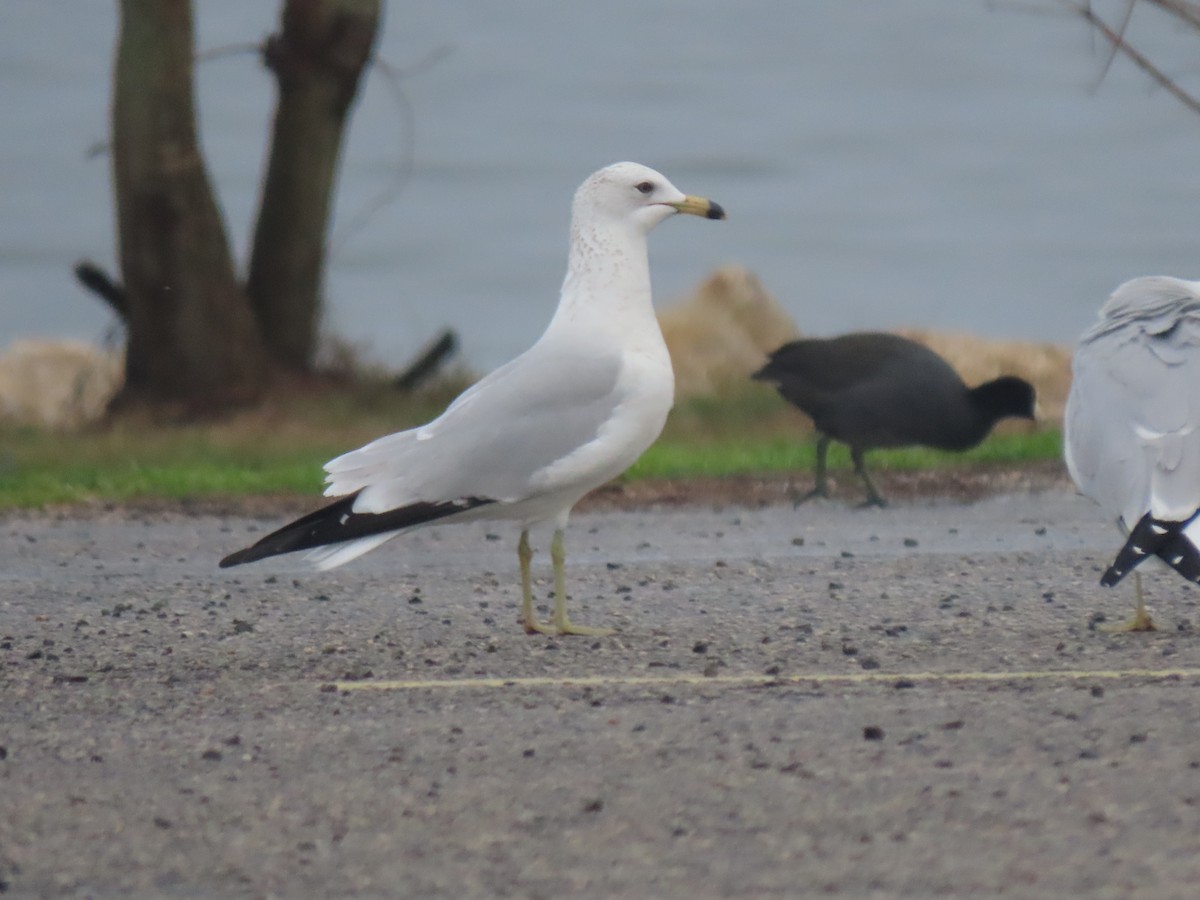
<svg viewBox="0 0 1200 900">
<path fill-rule="evenodd" d="M 1132 528 L 1200 506 L 1200 318 L 1128 317 L 1075 353 L 1064 456 L 1080 491 Z"/>
</svg>

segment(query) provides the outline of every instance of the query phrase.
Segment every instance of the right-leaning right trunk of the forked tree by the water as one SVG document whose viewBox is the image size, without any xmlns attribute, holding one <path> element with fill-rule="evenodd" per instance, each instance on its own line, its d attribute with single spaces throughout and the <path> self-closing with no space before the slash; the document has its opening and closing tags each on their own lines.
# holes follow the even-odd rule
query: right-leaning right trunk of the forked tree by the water
<svg viewBox="0 0 1200 900">
<path fill-rule="evenodd" d="M 382 0 L 287 0 L 264 53 L 280 85 L 246 292 L 272 360 L 312 366 L 346 114 L 371 56 Z"/>
</svg>

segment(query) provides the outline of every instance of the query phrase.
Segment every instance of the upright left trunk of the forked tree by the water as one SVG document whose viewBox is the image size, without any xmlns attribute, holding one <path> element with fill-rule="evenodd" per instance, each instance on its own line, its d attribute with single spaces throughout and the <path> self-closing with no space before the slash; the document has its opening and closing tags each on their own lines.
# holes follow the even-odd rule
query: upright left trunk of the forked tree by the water
<svg viewBox="0 0 1200 900">
<path fill-rule="evenodd" d="M 126 292 L 119 401 L 215 410 L 265 366 L 196 143 L 190 0 L 120 0 L 113 180 Z"/>
</svg>

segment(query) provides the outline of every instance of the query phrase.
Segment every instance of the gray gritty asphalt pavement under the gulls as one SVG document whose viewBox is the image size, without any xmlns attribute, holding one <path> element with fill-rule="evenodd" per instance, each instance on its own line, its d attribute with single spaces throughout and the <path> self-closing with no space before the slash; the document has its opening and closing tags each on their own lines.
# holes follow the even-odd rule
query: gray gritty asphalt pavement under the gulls
<svg viewBox="0 0 1200 900">
<path fill-rule="evenodd" d="M 1104 631 L 1067 492 L 577 515 L 599 638 L 508 524 L 217 569 L 275 524 L 0 521 L 0 894 L 1200 892 L 1200 594 Z"/>
</svg>

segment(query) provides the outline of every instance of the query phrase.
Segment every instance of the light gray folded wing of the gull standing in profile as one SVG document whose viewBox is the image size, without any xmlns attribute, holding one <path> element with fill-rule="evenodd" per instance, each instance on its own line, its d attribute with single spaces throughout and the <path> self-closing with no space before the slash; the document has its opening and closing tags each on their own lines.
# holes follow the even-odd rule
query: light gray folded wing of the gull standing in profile
<svg viewBox="0 0 1200 900">
<path fill-rule="evenodd" d="M 539 473 L 594 440 L 619 404 L 618 354 L 535 344 L 440 416 L 325 466 L 326 496 L 362 491 L 355 511 L 466 497 L 517 500 Z"/>
</svg>

